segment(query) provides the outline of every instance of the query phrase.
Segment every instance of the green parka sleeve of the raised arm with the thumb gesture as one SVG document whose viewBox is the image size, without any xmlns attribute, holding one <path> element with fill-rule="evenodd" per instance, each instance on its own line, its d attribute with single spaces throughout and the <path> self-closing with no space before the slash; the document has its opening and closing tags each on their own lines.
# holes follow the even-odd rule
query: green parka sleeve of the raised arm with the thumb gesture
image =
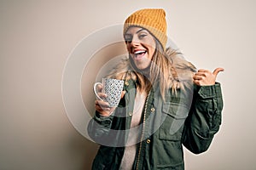
<svg viewBox="0 0 256 170">
<path fill-rule="evenodd" d="M 195 154 L 206 151 L 221 124 L 223 97 L 218 82 L 196 87 L 183 128 L 183 145 Z"/>
</svg>

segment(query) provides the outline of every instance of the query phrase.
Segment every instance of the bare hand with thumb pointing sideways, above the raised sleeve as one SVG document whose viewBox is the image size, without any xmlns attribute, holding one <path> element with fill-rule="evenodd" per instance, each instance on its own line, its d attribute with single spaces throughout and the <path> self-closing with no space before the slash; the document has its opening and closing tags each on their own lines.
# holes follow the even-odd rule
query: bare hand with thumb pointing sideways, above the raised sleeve
<svg viewBox="0 0 256 170">
<path fill-rule="evenodd" d="M 224 71 L 224 69 L 217 68 L 213 72 L 200 69 L 195 73 L 193 77 L 194 83 L 198 86 L 214 85 L 219 71 Z"/>
</svg>

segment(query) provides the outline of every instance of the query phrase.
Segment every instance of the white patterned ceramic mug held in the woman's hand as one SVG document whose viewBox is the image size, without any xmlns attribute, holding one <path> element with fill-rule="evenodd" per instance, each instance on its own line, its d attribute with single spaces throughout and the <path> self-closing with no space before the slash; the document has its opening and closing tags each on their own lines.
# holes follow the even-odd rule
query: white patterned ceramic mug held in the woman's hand
<svg viewBox="0 0 256 170">
<path fill-rule="evenodd" d="M 96 87 L 102 84 L 102 93 L 107 94 L 106 99 L 102 99 L 96 91 Z M 113 78 L 102 78 L 102 82 L 96 82 L 94 84 L 94 93 L 98 99 L 108 102 L 110 107 L 117 107 L 121 99 L 121 94 L 124 87 L 124 81 Z"/>
</svg>

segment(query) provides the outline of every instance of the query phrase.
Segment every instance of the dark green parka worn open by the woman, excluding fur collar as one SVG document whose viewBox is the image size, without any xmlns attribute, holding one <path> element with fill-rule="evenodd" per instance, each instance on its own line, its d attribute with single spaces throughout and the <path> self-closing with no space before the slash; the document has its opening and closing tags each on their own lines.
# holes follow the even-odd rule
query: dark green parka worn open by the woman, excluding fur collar
<svg viewBox="0 0 256 170">
<path fill-rule="evenodd" d="M 92 169 L 119 169 L 129 129 L 141 132 L 133 169 L 183 170 L 183 146 L 195 154 L 206 151 L 221 124 L 220 84 L 184 84 L 176 94 L 170 89 L 165 100 L 155 85 L 146 99 L 140 126 L 130 129 L 137 83 L 126 81 L 125 97 L 113 114 L 106 117 L 96 112 L 87 128 L 90 138 L 101 144 Z"/>
</svg>

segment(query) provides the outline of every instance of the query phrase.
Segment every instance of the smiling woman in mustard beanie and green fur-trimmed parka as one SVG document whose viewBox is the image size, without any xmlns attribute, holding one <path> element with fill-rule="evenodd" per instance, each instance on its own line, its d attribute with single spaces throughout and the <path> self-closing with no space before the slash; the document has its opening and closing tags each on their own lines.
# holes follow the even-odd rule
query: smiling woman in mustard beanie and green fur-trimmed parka
<svg viewBox="0 0 256 170">
<path fill-rule="evenodd" d="M 129 59 L 109 75 L 125 87 L 116 108 L 96 99 L 88 133 L 101 146 L 92 169 L 184 169 L 183 145 L 199 154 L 218 132 L 223 100 L 215 80 L 224 70 L 196 72 L 166 48 L 165 17 L 145 8 L 125 20 Z"/>
</svg>

